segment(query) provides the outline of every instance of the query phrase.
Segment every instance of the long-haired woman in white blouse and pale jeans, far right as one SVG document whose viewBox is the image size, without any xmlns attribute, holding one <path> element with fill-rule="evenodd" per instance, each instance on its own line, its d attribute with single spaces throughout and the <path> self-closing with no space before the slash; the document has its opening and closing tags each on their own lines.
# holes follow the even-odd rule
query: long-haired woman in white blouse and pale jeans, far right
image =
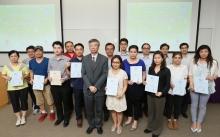
<svg viewBox="0 0 220 137">
<path fill-rule="evenodd" d="M 208 89 L 195 88 L 195 78 L 208 80 Z M 210 94 L 215 92 L 215 79 L 218 77 L 218 63 L 212 57 L 212 52 L 209 46 L 201 45 L 190 64 L 189 81 L 190 81 L 190 96 L 191 96 L 191 115 L 192 115 L 192 132 L 200 133 L 202 131 L 201 123 L 206 113 L 206 105 Z M 201 85 L 200 85 L 201 86 Z M 204 93 L 202 90 L 207 90 Z M 197 108 L 199 111 L 197 114 Z M 198 117 L 197 117 L 198 115 Z"/>
</svg>

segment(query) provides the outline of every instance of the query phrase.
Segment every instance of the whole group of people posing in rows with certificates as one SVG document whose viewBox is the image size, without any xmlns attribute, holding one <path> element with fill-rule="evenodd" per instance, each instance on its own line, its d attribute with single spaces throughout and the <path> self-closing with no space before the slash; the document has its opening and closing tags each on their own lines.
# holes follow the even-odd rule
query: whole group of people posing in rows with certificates
<svg viewBox="0 0 220 137">
<path fill-rule="evenodd" d="M 55 56 L 50 59 L 43 56 L 42 46 L 27 47 L 29 57 L 22 62 L 19 62 L 17 51 L 12 50 L 8 53 L 10 63 L 4 66 L 2 77 L 7 80 L 8 94 L 17 117 L 16 126 L 26 123 L 29 92 L 33 102 L 33 114 L 41 113 L 39 122 L 47 117 L 44 102 L 46 99 L 50 108 L 48 112 L 50 121 L 56 119 L 54 111 L 56 107 L 55 126 L 64 121 L 63 126 L 67 127 L 75 108 L 77 127 L 82 127 L 84 111 L 85 119 L 88 119 L 89 124 L 86 133 L 90 134 L 96 128 L 97 133 L 102 134 L 103 114 L 106 122 L 110 111 L 114 122 L 111 131 L 117 130 L 117 134 L 121 134 L 122 127 L 130 124 L 129 130 L 135 131 L 138 127 L 138 119 L 144 113 L 148 117 L 144 132 L 152 132 L 153 137 L 158 137 L 162 132 L 163 115 L 167 117 L 167 127 L 175 130 L 179 129 L 177 121 L 180 114 L 188 118 L 186 111 L 190 95 L 191 131 L 198 133 L 202 131 L 201 124 L 206 113 L 206 105 L 210 95 L 215 92 L 214 80 L 218 77 L 218 63 L 213 59 L 209 46 L 201 45 L 194 57 L 190 57 L 189 45 L 182 43 L 179 46 L 180 52 L 175 52 L 169 57 L 168 44 L 162 44 L 160 50 L 151 55 L 150 44 L 144 43 L 141 46 L 143 56 L 138 57 L 139 47 L 137 45 L 128 47 L 128 40 L 122 38 L 120 52 L 117 55 L 114 55 L 114 44 L 105 45 L 106 57 L 98 52 L 100 43 L 97 39 L 91 39 L 88 45 L 91 53 L 86 56 L 83 55 L 83 44 L 74 45 L 71 41 L 65 43 L 65 53 L 63 53 L 64 45 L 60 41 L 55 41 L 52 44 Z M 81 78 L 70 78 L 71 73 L 74 73 L 71 72 L 71 62 L 82 63 Z M 142 82 L 131 80 L 132 66 L 142 66 Z M 54 70 L 61 72 L 60 86 L 50 84 L 53 81 L 50 71 Z M 22 71 L 22 86 L 11 85 L 10 72 L 13 71 Z M 45 77 L 43 90 L 33 90 L 34 75 Z M 156 93 L 145 91 L 148 75 L 159 77 Z M 195 76 L 202 76 L 208 80 L 208 94 L 195 90 L 193 80 Z M 107 78 L 118 79 L 116 96 L 106 95 Z M 183 95 L 173 94 L 176 79 L 186 81 Z M 74 94 L 75 107 L 72 94 Z M 198 107 L 199 111 L 197 111 Z M 122 122 L 124 115 L 127 119 Z"/>
</svg>

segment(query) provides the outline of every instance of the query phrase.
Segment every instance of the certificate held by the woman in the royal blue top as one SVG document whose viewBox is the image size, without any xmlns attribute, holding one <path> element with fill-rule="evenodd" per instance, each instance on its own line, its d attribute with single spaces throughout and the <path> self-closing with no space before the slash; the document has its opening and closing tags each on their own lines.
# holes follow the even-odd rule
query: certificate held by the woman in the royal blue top
<svg viewBox="0 0 220 137">
<path fill-rule="evenodd" d="M 142 66 L 131 66 L 130 72 L 132 82 L 142 82 Z"/>
</svg>

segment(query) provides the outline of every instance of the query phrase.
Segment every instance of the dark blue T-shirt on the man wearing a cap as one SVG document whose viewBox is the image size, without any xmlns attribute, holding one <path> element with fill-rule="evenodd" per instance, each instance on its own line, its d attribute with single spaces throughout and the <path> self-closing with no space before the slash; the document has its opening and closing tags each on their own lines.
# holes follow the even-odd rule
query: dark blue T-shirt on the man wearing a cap
<svg viewBox="0 0 220 137">
<path fill-rule="evenodd" d="M 48 62 L 49 62 L 49 58 L 46 58 L 46 57 L 44 57 L 40 63 L 38 63 L 36 61 L 36 58 L 34 58 L 29 62 L 29 69 L 33 71 L 34 75 L 41 75 L 47 78 L 48 77 L 48 73 L 47 73 Z"/>
</svg>

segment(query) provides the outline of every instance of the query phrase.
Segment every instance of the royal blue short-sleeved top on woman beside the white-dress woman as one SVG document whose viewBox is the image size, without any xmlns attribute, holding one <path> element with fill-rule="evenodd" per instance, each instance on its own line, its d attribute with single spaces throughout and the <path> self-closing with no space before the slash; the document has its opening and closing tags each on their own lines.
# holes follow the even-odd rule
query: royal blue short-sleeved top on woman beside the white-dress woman
<svg viewBox="0 0 220 137">
<path fill-rule="evenodd" d="M 131 66 L 142 66 L 142 72 L 143 71 L 146 71 L 146 66 L 144 64 L 144 61 L 139 59 L 139 61 L 137 63 L 134 63 L 134 64 L 130 64 L 128 62 L 128 60 L 124 60 L 123 61 L 123 66 L 122 66 L 122 69 L 128 74 L 128 79 L 130 80 L 130 67 Z"/>
</svg>

